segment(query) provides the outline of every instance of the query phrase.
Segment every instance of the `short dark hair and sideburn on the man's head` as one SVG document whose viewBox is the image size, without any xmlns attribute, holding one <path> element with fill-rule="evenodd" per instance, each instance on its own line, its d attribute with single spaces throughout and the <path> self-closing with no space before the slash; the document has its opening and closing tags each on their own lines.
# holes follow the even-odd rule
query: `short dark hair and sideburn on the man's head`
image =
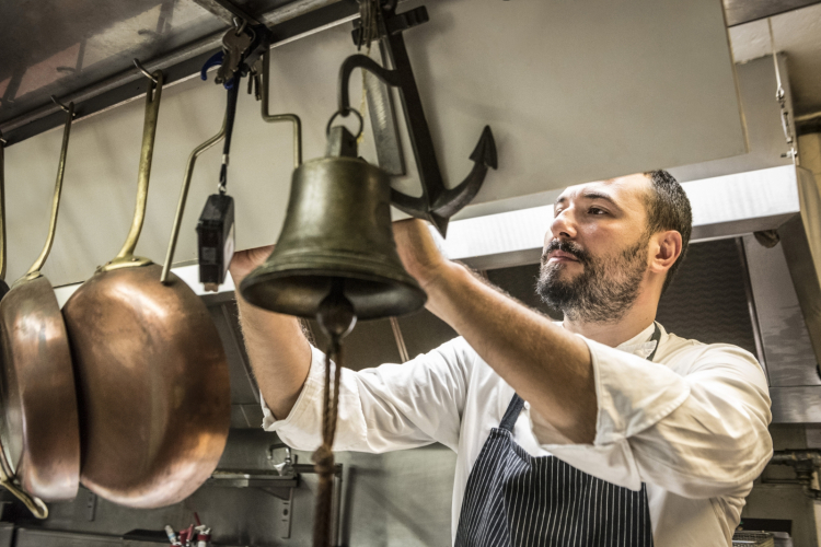
<svg viewBox="0 0 821 547">
<path fill-rule="evenodd" d="M 681 256 L 667 272 L 661 293 L 667 291 L 673 280 L 675 271 L 684 260 L 693 233 L 693 210 L 684 188 L 673 175 L 664 170 L 648 171 L 645 176 L 650 179 L 652 189 L 647 197 L 647 228 L 649 233 L 675 230 L 681 234 Z"/>
</svg>

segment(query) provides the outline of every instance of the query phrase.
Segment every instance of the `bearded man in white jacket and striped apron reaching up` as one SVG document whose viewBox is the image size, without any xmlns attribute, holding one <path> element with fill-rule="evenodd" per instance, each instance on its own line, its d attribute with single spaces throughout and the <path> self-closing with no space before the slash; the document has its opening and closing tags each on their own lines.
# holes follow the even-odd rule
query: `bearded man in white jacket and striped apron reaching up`
<svg viewBox="0 0 821 547">
<path fill-rule="evenodd" d="M 772 453 L 770 398 L 747 351 L 654 322 L 691 224 L 663 171 L 567 188 L 537 283 L 560 325 L 443 258 L 420 221 L 394 224 L 427 307 L 461 336 L 344 370 L 335 450 L 456 451 L 458 546 L 730 545 Z M 235 258 L 234 281 L 269 251 Z M 315 449 L 322 353 L 296 319 L 238 299 L 265 429 Z"/>
</svg>

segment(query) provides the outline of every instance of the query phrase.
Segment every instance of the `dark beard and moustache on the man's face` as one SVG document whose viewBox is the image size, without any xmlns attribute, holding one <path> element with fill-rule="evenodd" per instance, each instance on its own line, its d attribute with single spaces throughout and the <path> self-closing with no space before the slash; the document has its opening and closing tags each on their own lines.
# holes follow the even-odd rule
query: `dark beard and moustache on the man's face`
<svg viewBox="0 0 821 547">
<path fill-rule="evenodd" d="M 649 234 L 614 257 L 591 256 L 574 242 L 553 240 L 542 255 L 536 292 L 542 301 L 560 310 L 565 317 L 581 323 L 615 323 L 629 311 L 647 271 Z M 582 271 L 563 279 L 566 263 L 547 263 L 552 251 L 574 255 Z"/>
</svg>

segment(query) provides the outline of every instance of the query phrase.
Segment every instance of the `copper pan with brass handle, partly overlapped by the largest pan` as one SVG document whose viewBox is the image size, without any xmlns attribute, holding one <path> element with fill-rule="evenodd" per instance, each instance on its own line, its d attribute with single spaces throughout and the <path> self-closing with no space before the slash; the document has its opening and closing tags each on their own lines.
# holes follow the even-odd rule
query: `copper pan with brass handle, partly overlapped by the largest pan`
<svg viewBox="0 0 821 547">
<path fill-rule="evenodd" d="M 46 243 L 0 301 L 4 403 L 0 443 L 14 479 L 45 501 L 73 499 L 80 481 L 80 429 L 68 335 L 51 283 L 41 274 L 54 243 L 73 103 L 67 113 Z"/>
</svg>

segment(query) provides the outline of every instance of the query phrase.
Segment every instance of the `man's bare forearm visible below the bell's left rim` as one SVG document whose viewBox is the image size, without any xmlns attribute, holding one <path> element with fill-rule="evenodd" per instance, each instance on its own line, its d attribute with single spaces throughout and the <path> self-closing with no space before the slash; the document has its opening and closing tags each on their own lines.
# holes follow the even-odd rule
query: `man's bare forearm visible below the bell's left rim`
<svg viewBox="0 0 821 547">
<path fill-rule="evenodd" d="M 239 284 L 239 283 L 238 283 Z M 311 346 L 299 319 L 245 302 L 236 291 L 245 350 L 265 403 L 277 419 L 297 403 L 311 366 Z"/>
</svg>

